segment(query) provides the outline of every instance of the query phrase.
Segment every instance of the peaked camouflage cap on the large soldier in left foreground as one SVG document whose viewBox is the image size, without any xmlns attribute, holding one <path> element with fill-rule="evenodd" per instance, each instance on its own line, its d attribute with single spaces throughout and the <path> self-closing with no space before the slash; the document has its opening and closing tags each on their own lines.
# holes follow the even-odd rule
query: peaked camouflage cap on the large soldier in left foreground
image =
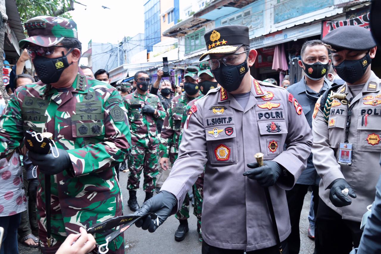
<svg viewBox="0 0 381 254">
<path fill-rule="evenodd" d="M 28 42 L 42 47 L 58 44 L 64 38 L 78 39 L 77 24 L 71 19 L 37 16 L 24 23 L 29 37 L 21 40 L 19 46 L 25 48 Z"/>
</svg>

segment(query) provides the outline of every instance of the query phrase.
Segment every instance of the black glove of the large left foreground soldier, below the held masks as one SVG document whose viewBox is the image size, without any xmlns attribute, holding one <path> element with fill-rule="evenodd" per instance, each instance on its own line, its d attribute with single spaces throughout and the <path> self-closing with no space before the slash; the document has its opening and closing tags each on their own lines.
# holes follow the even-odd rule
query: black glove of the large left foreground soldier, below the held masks
<svg viewBox="0 0 381 254">
<path fill-rule="evenodd" d="M 55 149 L 54 149 L 55 150 Z M 54 158 L 53 154 L 34 153 L 29 151 L 29 159 L 34 166 L 38 166 L 38 169 L 46 175 L 56 175 L 65 169 L 72 168 L 72 162 L 70 161 L 69 154 L 66 150 L 58 149 L 59 156 Z"/>
</svg>

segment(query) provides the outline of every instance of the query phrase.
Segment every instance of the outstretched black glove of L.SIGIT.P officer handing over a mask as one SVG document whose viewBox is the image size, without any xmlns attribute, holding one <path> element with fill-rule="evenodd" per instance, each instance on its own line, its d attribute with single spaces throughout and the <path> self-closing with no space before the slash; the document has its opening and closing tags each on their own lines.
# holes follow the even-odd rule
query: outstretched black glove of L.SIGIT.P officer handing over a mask
<svg viewBox="0 0 381 254">
<path fill-rule="evenodd" d="M 162 225 L 163 222 L 171 215 L 172 209 L 177 204 L 176 197 L 168 192 L 168 191 L 160 191 L 157 195 L 148 199 L 142 207 L 136 211 L 135 215 L 144 215 L 148 212 L 154 212 L 157 214 L 157 220 L 152 220 L 151 216 L 144 217 L 141 220 L 135 222 L 136 227 L 142 228 L 143 230 L 147 230 L 149 232 L 155 232 L 158 226 Z"/>
</svg>

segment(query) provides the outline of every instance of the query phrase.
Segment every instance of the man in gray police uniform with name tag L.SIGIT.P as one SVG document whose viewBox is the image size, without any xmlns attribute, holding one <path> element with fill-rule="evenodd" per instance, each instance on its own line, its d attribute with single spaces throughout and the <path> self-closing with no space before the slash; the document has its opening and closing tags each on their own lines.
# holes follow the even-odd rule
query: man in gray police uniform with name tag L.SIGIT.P
<svg viewBox="0 0 381 254">
<path fill-rule="evenodd" d="M 210 55 L 222 87 L 192 106 L 170 176 L 137 212 L 155 212 L 158 221 L 146 218 L 137 226 L 153 232 L 178 211 L 205 166 L 202 253 L 279 253 L 267 186 L 287 253 L 291 227 L 285 190 L 306 167 L 311 129 L 293 95 L 250 76 L 257 52 L 250 50 L 247 26 L 217 27 L 204 37 L 208 51 L 200 60 Z M 254 158 L 258 152 L 264 154 L 261 167 Z"/>
</svg>

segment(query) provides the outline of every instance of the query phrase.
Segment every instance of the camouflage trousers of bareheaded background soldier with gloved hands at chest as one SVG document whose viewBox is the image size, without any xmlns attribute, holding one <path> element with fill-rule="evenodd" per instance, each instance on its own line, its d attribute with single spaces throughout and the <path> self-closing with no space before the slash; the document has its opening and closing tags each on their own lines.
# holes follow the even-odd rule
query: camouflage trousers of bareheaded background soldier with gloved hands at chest
<svg viewBox="0 0 381 254">
<path fill-rule="evenodd" d="M 137 190 L 140 184 L 140 174 L 143 171 L 144 182 L 143 190 L 153 192 L 156 185 L 158 170 L 158 144 L 146 142 L 146 145 L 132 145 L 131 153 L 128 158 L 127 190 Z"/>
</svg>

